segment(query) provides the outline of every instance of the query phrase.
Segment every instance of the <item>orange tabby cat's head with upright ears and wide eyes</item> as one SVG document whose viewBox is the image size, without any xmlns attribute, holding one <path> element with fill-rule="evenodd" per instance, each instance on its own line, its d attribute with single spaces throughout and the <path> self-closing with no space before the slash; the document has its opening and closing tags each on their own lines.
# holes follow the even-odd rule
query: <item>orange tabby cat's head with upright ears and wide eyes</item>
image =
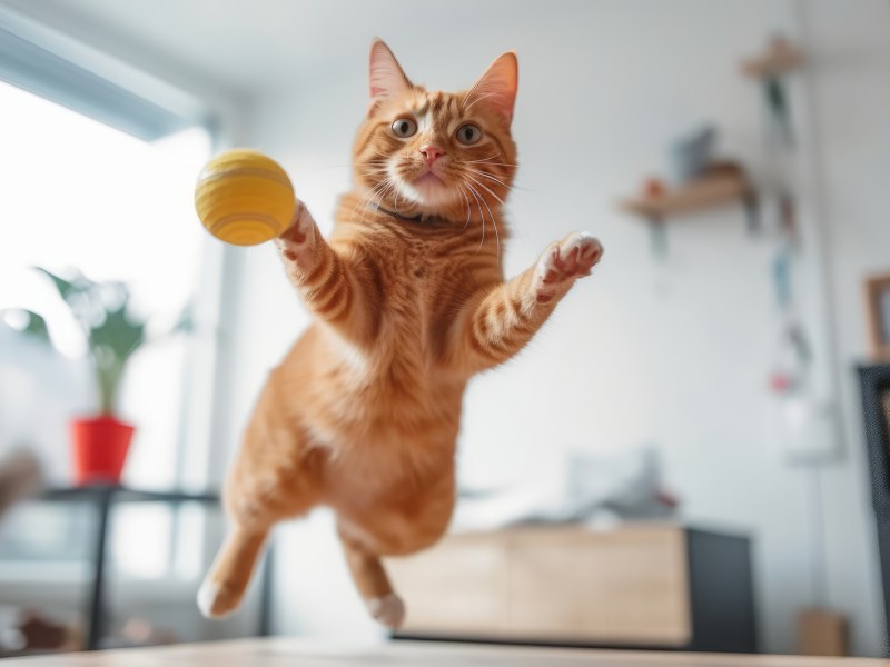
<svg viewBox="0 0 890 667">
<path fill-rule="evenodd" d="M 467 90 L 427 91 L 376 40 L 370 108 L 353 151 L 359 191 L 405 217 L 488 219 L 516 171 L 510 126 L 517 74 L 516 56 L 507 52 Z"/>
</svg>

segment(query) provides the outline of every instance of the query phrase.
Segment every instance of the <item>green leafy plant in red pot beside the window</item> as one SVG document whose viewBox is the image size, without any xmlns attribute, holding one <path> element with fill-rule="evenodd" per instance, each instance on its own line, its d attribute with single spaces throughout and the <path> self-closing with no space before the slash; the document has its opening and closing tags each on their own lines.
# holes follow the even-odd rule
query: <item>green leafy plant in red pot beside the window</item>
<svg viewBox="0 0 890 667">
<path fill-rule="evenodd" d="M 135 427 L 118 417 L 118 399 L 127 362 L 147 342 L 146 321 L 130 311 L 130 293 L 122 282 L 95 282 L 80 272 L 69 280 L 37 270 L 52 281 L 83 330 L 98 389 L 98 412 L 71 422 L 75 481 L 119 484 Z M 48 339 L 42 318 L 27 315 L 30 328 L 37 329 L 31 332 Z M 186 325 L 184 317 L 174 331 Z"/>
</svg>

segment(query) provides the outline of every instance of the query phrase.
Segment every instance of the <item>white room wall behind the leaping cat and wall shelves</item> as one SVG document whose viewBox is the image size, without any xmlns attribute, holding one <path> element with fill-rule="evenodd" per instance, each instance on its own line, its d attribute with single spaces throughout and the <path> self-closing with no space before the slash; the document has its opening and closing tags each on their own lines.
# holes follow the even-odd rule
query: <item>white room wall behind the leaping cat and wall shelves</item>
<svg viewBox="0 0 890 667">
<path fill-rule="evenodd" d="M 507 272 L 552 239 L 589 229 L 606 255 L 520 359 L 478 378 L 466 399 L 459 466 L 464 480 L 494 486 L 530 474 L 567 448 L 595 451 L 653 442 L 691 522 L 741 527 L 755 539 L 762 646 L 794 649 L 794 613 L 814 600 L 811 496 L 800 468 L 782 462 L 773 399 L 764 389 L 775 338 L 769 238 L 748 238 L 740 211 L 715 211 L 670 229 L 666 262 L 653 261 L 644 226 L 615 211 L 641 177 L 664 171 L 665 147 L 698 120 L 714 120 L 721 148 L 752 165 L 763 155 L 760 91 L 736 73 L 741 57 L 779 29 L 811 53 L 793 87 L 801 120 L 807 240 L 804 276 L 818 266 L 818 222 L 827 226 L 830 296 L 840 349 L 844 456 L 821 475 L 828 548 L 828 603 L 852 620 L 857 654 L 879 655 L 882 613 L 862 435 L 851 362 L 864 346 L 860 278 L 890 262 L 890 4 L 791 0 L 602 0 L 457 3 L 461 34 L 414 19 L 368 26 L 354 67 L 258 101 L 248 142 L 276 157 L 323 227 L 348 185 L 349 145 L 365 109 L 366 48 L 387 39 L 409 76 L 431 87 L 467 86 L 501 51 L 516 49 L 515 120 L 520 181 Z M 854 6 L 854 7 L 853 7 Z M 336 11 L 332 9 L 332 11 Z M 444 16 L 444 14 L 443 14 Z M 459 44 L 459 46 L 456 46 Z M 339 61 L 343 58 L 338 58 Z M 812 142 L 817 136 L 821 147 Z M 818 179 L 818 180 L 813 180 Z M 818 197 L 814 197 L 818 195 Z M 231 408 L 220 432 L 233 447 L 266 371 L 308 321 L 270 248 L 231 255 L 240 292 L 225 335 L 235 346 Z M 818 330 L 824 295 L 808 280 Z M 808 291 L 809 290 L 809 291 Z M 822 372 L 831 377 L 825 345 Z M 235 381 L 237 379 L 237 381 Z M 546 386 L 546 391 L 540 391 Z M 287 526 L 278 540 L 277 629 L 375 636 L 352 590 L 329 517 Z"/>
</svg>

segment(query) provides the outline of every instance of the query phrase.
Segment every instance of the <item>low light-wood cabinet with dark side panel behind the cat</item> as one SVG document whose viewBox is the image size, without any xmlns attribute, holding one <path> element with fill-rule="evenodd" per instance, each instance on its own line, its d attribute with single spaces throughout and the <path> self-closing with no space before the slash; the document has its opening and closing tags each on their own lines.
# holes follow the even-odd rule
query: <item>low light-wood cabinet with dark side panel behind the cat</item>
<svg viewBox="0 0 890 667">
<path fill-rule="evenodd" d="M 458 534 L 388 568 L 408 607 L 402 636 L 755 648 L 744 538 L 663 525 Z"/>
</svg>

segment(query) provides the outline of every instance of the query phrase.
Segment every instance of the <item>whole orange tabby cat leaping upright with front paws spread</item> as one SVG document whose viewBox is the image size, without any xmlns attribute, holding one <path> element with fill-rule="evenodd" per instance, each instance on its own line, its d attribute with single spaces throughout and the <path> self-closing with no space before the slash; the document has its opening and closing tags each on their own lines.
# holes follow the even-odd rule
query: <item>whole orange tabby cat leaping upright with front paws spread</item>
<svg viewBox="0 0 890 667">
<path fill-rule="evenodd" d="M 602 255 L 574 232 L 504 281 L 516 84 L 510 52 L 468 91 L 429 92 L 374 42 L 355 188 L 334 233 L 299 206 L 277 241 L 317 322 L 247 427 L 225 494 L 234 527 L 198 593 L 205 615 L 238 605 L 276 521 L 324 505 L 370 614 L 402 623 L 380 557 L 428 547 L 448 525 L 467 381 L 518 352 Z"/>
</svg>

